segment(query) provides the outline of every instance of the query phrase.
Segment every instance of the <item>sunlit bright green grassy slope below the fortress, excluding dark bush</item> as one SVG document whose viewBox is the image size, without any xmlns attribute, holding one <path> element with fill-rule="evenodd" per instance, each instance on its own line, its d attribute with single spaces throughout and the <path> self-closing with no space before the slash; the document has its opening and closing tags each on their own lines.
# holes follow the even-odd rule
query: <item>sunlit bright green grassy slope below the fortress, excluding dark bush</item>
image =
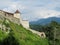
<svg viewBox="0 0 60 45">
<path fill-rule="evenodd" d="M 20 25 L 10 22 L 9 26 L 12 29 L 12 35 L 18 40 L 19 45 L 48 45 L 47 39 L 40 38 Z M 0 31 L 0 37 L 3 38 L 4 36 L 2 35 L 5 34 L 2 34 Z"/>
</svg>

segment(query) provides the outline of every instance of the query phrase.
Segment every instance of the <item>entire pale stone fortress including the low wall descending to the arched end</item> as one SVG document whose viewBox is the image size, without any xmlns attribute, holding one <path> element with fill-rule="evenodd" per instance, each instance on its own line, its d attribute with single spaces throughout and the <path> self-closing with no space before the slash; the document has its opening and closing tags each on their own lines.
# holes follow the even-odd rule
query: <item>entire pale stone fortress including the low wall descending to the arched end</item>
<svg viewBox="0 0 60 45">
<path fill-rule="evenodd" d="M 11 22 L 14 22 L 18 25 L 22 25 L 24 28 L 28 29 L 29 31 L 31 31 L 37 35 L 39 35 L 40 37 L 43 37 L 43 38 L 46 37 L 44 32 L 38 32 L 38 31 L 35 31 L 33 29 L 30 29 L 29 28 L 29 21 L 23 20 L 21 17 L 21 13 L 18 10 L 16 10 L 15 13 L 9 13 L 9 12 L 0 10 L 0 20 L 4 20 L 5 18 L 9 19 Z M 3 30 L 6 30 L 5 25 L 0 24 L 0 28 Z M 8 29 L 8 33 L 9 33 L 10 28 L 7 27 L 7 29 Z"/>
</svg>

